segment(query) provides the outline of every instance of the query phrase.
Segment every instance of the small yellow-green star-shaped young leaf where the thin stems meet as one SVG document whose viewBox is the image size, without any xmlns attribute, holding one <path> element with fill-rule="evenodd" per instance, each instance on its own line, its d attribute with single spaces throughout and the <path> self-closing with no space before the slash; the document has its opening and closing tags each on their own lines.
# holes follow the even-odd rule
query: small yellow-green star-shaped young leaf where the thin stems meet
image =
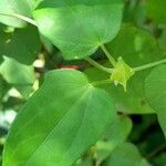
<svg viewBox="0 0 166 166">
<path fill-rule="evenodd" d="M 127 65 L 120 56 L 111 75 L 111 80 L 114 82 L 115 85 L 117 85 L 118 83 L 122 84 L 124 91 L 126 92 L 127 81 L 131 79 L 132 75 L 134 75 L 134 70 L 129 65 Z"/>
</svg>

